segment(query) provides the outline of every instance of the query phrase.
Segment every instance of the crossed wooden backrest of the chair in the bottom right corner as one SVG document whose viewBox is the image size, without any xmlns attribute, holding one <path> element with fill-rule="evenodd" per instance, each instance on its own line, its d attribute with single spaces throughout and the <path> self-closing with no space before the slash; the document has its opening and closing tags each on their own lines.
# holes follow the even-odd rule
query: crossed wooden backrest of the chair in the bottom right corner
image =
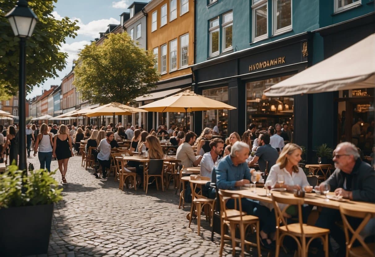
<svg viewBox="0 0 375 257">
<path fill-rule="evenodd" d="M 371 218 L 373 218 L 374 215 L 371 213 L 368 213 L 366 211 L 361 210 L 353 210 L 345 208 L 344 206 L 340 205 L 340 214 L 342 218 L 342 222 L 344 223 L 344 232 L 345 232 L 345 239 L 347 242 L 347 251 L 351 251 L 351 248 L 353 247 L 354 242 L 358 241 L 362 245 L 363 249 L 367 252 L 366 256 L 372 256 L 374 257 L 374 249 L 370 249 L 368 245 L 365 243 L 364 238 L 360 235 L 360 232 L 363 230 L 363 228 L 366 226 L 366 224 L 369 222 Z M 359 224 L 356 230 L 353 229 L 351 224 L 349 223 L 347 216 L 355 217 L 355 218 L 362 218 L 362 222 Z M 351 235 L 351 238 L 350 238 Z"/>
</svg>

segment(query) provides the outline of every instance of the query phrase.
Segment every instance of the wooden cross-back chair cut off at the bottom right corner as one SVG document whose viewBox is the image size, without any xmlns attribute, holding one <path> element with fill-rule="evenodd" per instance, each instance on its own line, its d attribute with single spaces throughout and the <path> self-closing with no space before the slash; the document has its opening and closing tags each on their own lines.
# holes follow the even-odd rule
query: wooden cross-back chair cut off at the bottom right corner
<svg viewBox="0 0 375 257">
<path fill-rule="evenodd" d="M 368 221 L 371 218 L 374 218 L 374 215 L 361 210 L 353 210 L 345 208 L 344 206 L 340 205 L 340 214 L 342 218 L 342 222 L 344 223 L 344 232 L 345 232 L 345 239 L 346 239 L 346 248 L 347 254 L 346 257 L 355 256 L 355 257 L 362 257 L 362 256 L 371 256 L 375 257 L 374 249 L 375 243 L 366 244 L 364 238 L 360 235 L 360 232 L 366 226 Z M 355 217 L 355 218 L 362 218 L 362 222 L 359 224 L 356 230 L 348 222 L 347 216 Z M 351 235 L 351 238 L 350 238 Z M 354 242 L 358 241 L 360 246 L 354 247 Z"/>
</svg>

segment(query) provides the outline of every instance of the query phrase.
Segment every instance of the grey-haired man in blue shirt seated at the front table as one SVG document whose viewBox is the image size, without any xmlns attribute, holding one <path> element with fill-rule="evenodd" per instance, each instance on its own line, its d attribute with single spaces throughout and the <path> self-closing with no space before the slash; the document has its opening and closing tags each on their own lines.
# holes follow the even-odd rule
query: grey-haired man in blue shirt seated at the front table
<svg viewBox="0 0 375 257">
<path fill-rule="evenodd" d="M 231 154 L 223 157 L 216 166 L 216 186 L 219 189 L 236 190 L 250 184 L 250 169 L 246 163 L 249 157 L 249 144 L 237 141 L 231 148 Z M 243 198 L 242 209 L 248 214 L 253 214 L 254 202 Z M 228 208 L 234 208 L 234 201 L 227 202 Z"/>
</svg>

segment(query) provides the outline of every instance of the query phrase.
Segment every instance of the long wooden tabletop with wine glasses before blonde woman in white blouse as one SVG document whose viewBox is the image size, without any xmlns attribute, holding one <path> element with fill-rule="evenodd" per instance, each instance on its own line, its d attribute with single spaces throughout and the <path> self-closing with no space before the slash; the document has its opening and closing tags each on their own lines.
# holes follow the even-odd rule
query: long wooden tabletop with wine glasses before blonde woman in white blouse
<svg viewBox="0 0 375 257">
<path fill-rule="evenodd" d="M 246 198 L 253 199 L 253 200 L 259 200 L 261 202 L 267 202 L 272 203 L 271 197 L 264 196 L 266 194 L 265 188 L 256 188 L 257 193 L 253 193 L 252 190 L 246 189 L 246 190 L 224 190 L 229 193 L 233 194 L 242 194 Z M 295 197 L 293 193 L 290 192 L 279 192 L 279 191 L 272 191 L 272 194 L 290 198 L 290 199 L 297 199 L 298 197 Z M 329 192 L 329 196 L 335 196 L 334 192 Z M 359 201 L 347 201 L 347 202 L 339 202 L 335 200 L 329 200 L 325 201 L 323 195 L 317 195 L 316 193 L 306 193 L 305 197 L 303 198 L 305 200 L 305 203 L 309 205 L 315 205 L 315 206 L 321 206 L 321 207 L 327 207 L 332 209 L 339 209 L 339 206 L 344 206 L 346 208 L 352 209 L 352 210 L 360 210 L 360 211 L 366 211 L 371 214 L 375 214 L 375 203 L 369 203 L 369 202 L 359 202 Z"/>
</svg>

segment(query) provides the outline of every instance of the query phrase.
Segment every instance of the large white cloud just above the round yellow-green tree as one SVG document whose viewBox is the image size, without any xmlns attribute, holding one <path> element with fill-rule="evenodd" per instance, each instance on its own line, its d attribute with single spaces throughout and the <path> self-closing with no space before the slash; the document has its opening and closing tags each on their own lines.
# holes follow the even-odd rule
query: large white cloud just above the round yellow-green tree
<svg viewBox="0 0 375 257">
<path fill-rule="evenodd" d="M 80 29 L 77 31 L 78 35 L 89 36 L 92 39 L 99 37 L 99 32 L 105 32 L 109 24 L 120 24 L 120 21 L 115 18 L 99 19 L 90 21 L 87 24 L 84 24 L 80 18 L 74 19 L 78 20 L 78 26 L 80 26 Z"/>
</svg>

